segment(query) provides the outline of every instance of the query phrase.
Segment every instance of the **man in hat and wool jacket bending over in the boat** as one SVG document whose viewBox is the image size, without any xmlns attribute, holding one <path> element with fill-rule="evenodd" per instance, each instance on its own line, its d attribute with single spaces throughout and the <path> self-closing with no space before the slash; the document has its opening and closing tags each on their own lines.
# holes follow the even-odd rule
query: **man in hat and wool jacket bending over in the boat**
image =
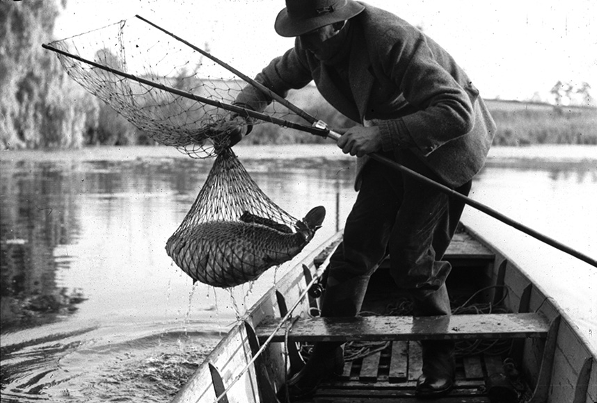
<svg viewBox="0 0 597 403">
<path fill-rule="evenodd" d="M 337 142 L 344 153 L 362 157 L 359 194 L 331 258 L 321 315 L 357 315 L 386 251 L 392 277 L 413 296 L 415 315 L 449 315 L 451 268 L 442 256 L 463 203 L 367 154 L 392 158 L 468 195 L 495 131 L 479 92 L 444 49 L 391 13 L 353 0 L 286 0 L 286 6 L 275 29 L 296 37 L 294 48 L 256 80 L 282 96 L 313 80 L 332 106 L 363 123 Z M 263 110 L 271 99 L 249 85 L 236 101 Z M 453 343 L 425 341 L 422 352 L 417 396 L 448 393 Z M 308 397 L 321 378 L 341 368 L 340 343 L 317 343 L 286 390 L 293 399 Z"/>
</svg>

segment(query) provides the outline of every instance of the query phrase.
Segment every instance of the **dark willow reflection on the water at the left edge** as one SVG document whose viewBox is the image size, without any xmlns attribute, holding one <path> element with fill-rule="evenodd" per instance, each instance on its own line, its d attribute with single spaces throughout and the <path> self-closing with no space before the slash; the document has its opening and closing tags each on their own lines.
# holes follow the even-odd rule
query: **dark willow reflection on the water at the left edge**
<svg viewBox="0 0 597 403">
<path fill-rule="evenodd" d="M 80 290 L 58 287 L 54 248 L 78 233 L 70 177 L 52 163 L 2 163 L 0 290 L 3 329 L 51 322 L 77 310 Z M 56 211 L 54 211 L 56 210 Z"/>
</svg>

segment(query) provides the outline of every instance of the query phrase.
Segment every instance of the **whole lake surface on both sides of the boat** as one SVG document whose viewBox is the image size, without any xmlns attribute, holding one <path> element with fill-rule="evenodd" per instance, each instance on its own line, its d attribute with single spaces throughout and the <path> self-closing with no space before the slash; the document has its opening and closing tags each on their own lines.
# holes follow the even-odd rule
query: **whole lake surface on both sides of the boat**
<svg viewBox="0 0 597 403">
<path fill-rule="evenodd" d="M 307 251 L 342 226 L 356 193 L 353 160 L 335 146 L 235 151 L 285 211 L 326 206 Z M 287 268 L 216 290 L 166 255 L 213 160 L 102 147 L 0 161 L 3 402 L 167 401 Z M 471 197 L 597 256 L 597 147 L 493 149 Z M 528 268 L 597 351 L 596 268 L 470 207 L 463 222 Z"/>
</svg>

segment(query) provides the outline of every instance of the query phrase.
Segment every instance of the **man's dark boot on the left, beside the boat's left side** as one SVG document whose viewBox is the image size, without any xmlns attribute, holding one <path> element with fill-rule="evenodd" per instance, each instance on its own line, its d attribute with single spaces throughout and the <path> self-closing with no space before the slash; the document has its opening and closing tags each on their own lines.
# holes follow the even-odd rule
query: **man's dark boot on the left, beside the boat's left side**
<svg viewBox="0 0 597 403">
<path fill-rule="evenodd" d="M 335 286 L 328 286 L 321 302 L 321 316 L 356 316 L 363 305 L 369 276 L 353 277 Z M 317 342 L 305 366 L 280 388 L 278 399 L 291 402 L 315 395 L 323 379 L 342 375 L 344 349 L 342 342 Z"/>
</svg>

